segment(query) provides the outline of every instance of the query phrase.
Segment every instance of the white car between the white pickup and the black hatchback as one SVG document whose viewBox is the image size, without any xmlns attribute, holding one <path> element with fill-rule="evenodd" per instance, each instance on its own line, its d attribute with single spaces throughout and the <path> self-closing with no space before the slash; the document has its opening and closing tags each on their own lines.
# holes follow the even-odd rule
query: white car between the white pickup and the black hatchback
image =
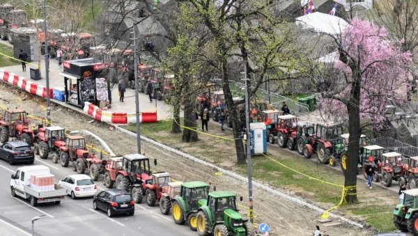
<svg viewBox="0 0 418 236">
<path fill-rule="evenodd" d="M 68 175 L 58 184 L 67 189 L 72 199 L 95 196 L 98 193 L 98 187 L 88 175 Z"/>
</svg>

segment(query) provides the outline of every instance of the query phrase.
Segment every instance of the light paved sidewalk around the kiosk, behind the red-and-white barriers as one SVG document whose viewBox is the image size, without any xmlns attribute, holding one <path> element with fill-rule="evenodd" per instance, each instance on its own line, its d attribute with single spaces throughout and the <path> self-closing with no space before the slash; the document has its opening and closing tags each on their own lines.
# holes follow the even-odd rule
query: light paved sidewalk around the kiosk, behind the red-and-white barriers
<svg viewBox="0 0 418 236">
<path fill-rule="evenodd" d="M 38 64 L 38 62 L 33 62 L 33 64 Z M 37 68 L 36 65 L 27 64 L 26 65 L 26 72 L 22 72 L 22 65 L 13 65 L 3 68 L 9 72 L 13 72 L 15 74 L 19 74 L 26 79 L 33 81 L 36 84 L 40 84 L 42 86 L 46 86 L 46 79 L 45 79 L 45 61 L 41 63 L 41 75 L 42 79 L 35 81 L 30 79 L 30 68 Z M 49 88 L 64 88 L 64 77 L 59 74 L 63 72 L 63 68 L 58 67 L 58 61 L 56 59 L 51 59 L 49 61 Z M 119 102 L 118 99 L 118 88 L 115 86 L 111 90 L 111 109 L 109 111 L 112 112 L 127 112 L 127 113 L 134 113 L 135 112 L 135 91 L 130 88 L 126 88 L 125 93 L 125 100 L 124 102 Z M 65 102 L 59 102 L 53 100 L 54 102 L 65 104 Z M 68 105 L 71 106 L 71 105 Z M 67 107 L 67 106 L 66 106 Z M 72 107 L 72 106 L 71 106 Z M 79 109 L 77 107 L 72 107 L 72 109 Z M 80 109 L 82 110 L 82 109 Z M 173 109 L 171 105 L 166 104 L 164 101 L 157 101 L 153 100 L 151 103 L 148 99 L 148 95 L 144 93 L 139 93 L 139 111 L 140 112 L 153 112 L 157 111 L 157 119 L 164 120 L 173 117 Z M 183 115 L 183 112 L 181 113 Z"/>
</svg>

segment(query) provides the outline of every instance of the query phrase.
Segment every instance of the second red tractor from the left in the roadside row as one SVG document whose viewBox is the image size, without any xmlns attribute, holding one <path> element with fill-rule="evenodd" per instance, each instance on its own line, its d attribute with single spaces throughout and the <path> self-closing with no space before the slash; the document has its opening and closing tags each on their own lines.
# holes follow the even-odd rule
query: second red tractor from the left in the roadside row
<svg viewBox="0 0 418 236">
<path fill-rule="evenodd" d="M 35 154 L 39 154 L 42 159 L 47 159 L 50 155 L 54 163 L 59 161 L 59 152 L 66 149 L 65 132 L 59 126 L 39 129 L 35 141 L 36 143 L 33 144 Z"/>
</svg>

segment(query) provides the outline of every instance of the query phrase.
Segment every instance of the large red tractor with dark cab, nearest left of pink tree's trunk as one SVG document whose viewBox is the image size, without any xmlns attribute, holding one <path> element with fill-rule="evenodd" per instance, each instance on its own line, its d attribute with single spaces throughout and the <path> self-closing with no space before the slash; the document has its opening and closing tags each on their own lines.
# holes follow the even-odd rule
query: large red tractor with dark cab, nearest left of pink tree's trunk
<svg viewBox="0 0 418 236">
<path fill-rule="evenodd" d="M 304 156 L 309 158 L 316 152 L 319 162 L 327 163 L 334 155 L 336 143 L 341 143 L 341 134 L 343 127 L 339 124 L 316 124 L 315 141 L 304 146 Z"/>
</svg>

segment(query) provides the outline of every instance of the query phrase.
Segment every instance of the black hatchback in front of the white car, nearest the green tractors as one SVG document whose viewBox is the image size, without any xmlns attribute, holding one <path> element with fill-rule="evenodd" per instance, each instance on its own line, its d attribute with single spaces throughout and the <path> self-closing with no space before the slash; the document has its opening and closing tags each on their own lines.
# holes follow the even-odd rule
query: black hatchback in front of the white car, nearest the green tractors
<svg viewBox="0 0 418 236">
<path fill-rule="evenodd" d="M 93 197 L 94 210 L 104 210 L 109 217 L 116 214 L 133 215 L 135 203 L 132 196 L 123 189 L 107 189 Z"/>
</svg>

